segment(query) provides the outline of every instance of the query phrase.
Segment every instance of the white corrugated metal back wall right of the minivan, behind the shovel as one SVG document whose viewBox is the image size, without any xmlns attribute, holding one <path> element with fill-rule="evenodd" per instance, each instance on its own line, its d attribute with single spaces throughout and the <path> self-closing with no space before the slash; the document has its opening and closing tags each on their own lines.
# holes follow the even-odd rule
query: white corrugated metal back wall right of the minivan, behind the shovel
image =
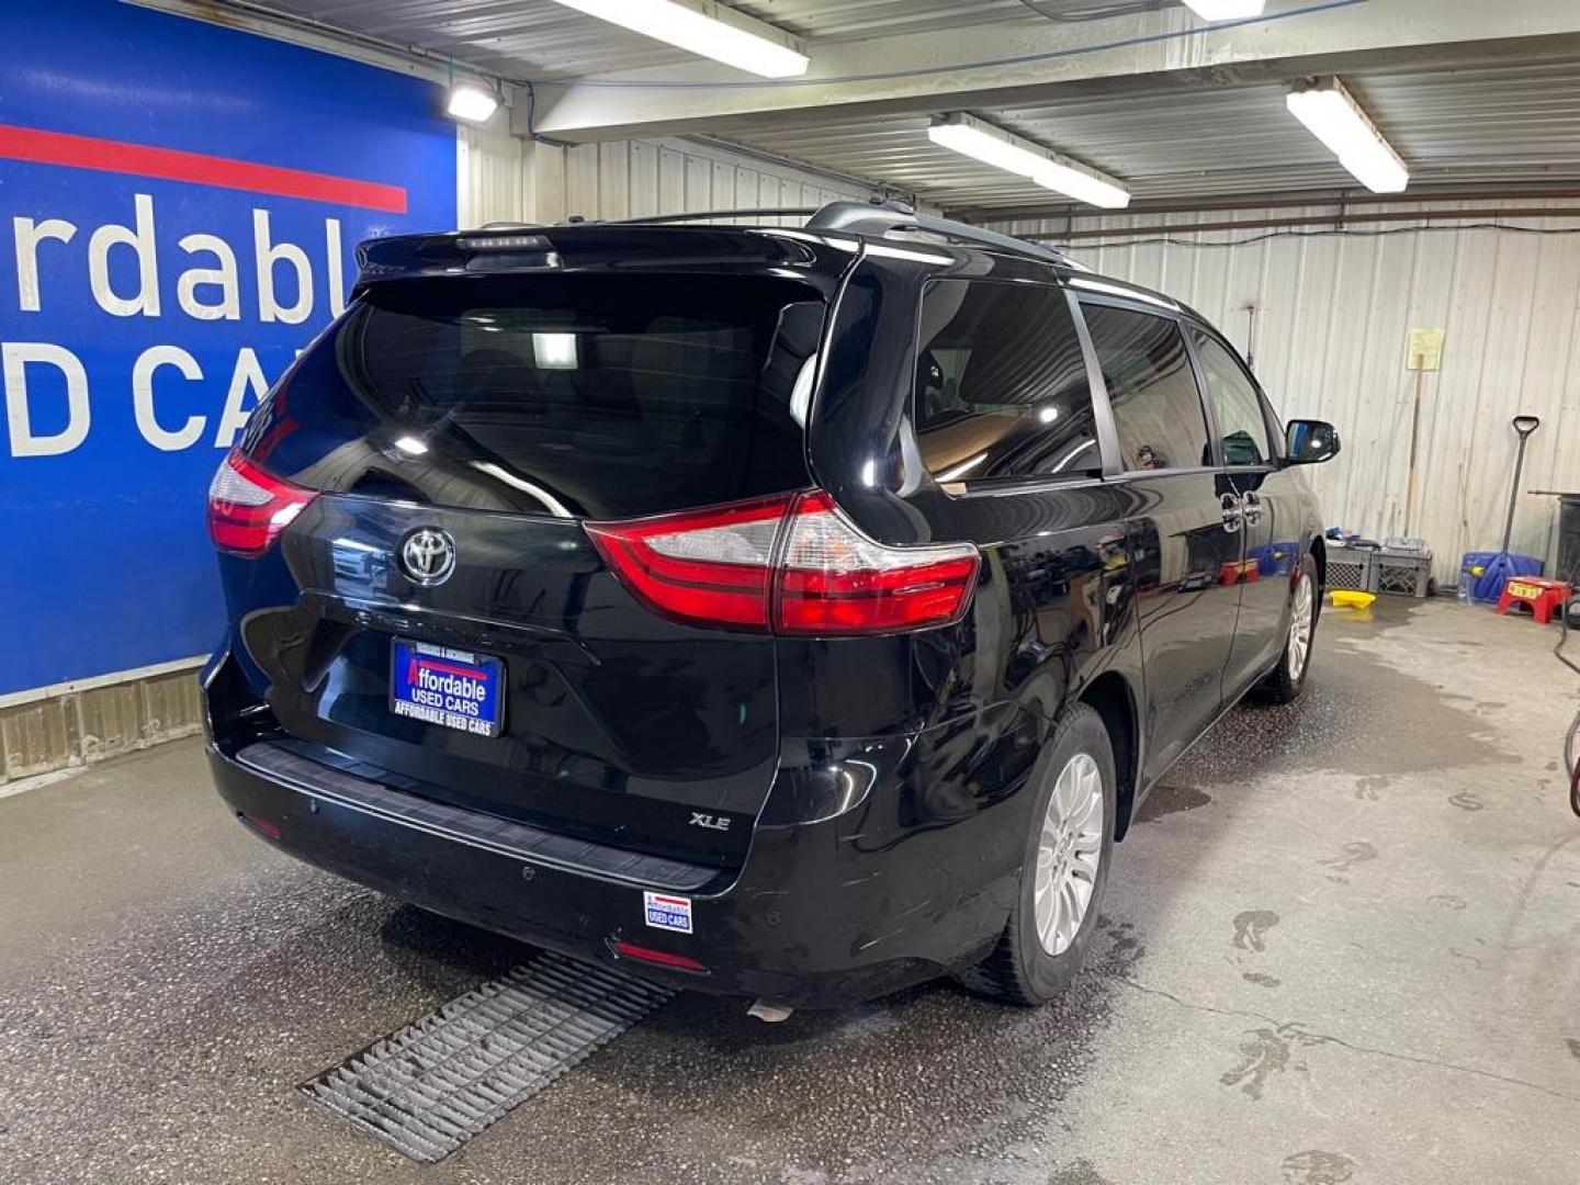
<svg viewBox="0 0 1580 1185">
<path fill-rule="evenodd" d="M 1431 202 L 1436 210 L 1466 205 Z M 1539 213 L 1574 202 L 1520 205 Z M 1542 556 L 1552 572 L 1556 499 L 1525 491 L 1580 488 L 1580 218 L 1501 220 L 1531 228 L 1522 232 L 1411 221 L 1420 209 L 1406 204 L 1398 221 L 1343 229 L 1168 231 L 1169 223 L 1326 216 L 1334 207 L 1081 218 L 1081 232 L 1160 229 L 1074 240 L 1070 250 L 1098 272 L 1168 292 L 1217 324 L 1251 357 L 1281 417 L 1338 425 L 1343 453 L 1310 469 L 1329 525 L 1371 539 L 1406 534 L 1408 526 L 1431 547 L 1439 586 L 1457 581 L 1463 551 L 1499 547 L 1517 447 L 1509 420 L 1515 412 L 1539 416 L 1512 548 Z M 1059 234 L 1066 224 L 1022 220 L 994 228 Z M 1406 514 L 1413 327 L 1444 330 L 1444 346 L 1443 368 L 1420 376 Z"/>
</svg>

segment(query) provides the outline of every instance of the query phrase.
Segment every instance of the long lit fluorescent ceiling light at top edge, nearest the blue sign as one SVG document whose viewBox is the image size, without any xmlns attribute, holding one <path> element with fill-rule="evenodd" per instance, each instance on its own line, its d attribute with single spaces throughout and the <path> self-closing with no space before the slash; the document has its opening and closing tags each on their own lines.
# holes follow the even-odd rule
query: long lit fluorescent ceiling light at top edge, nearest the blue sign
<svg viewBox="0 0 1580 1185">
<path fill-rule="evenodd" d="M 804 74 L 801 43 L 714 0 L 559 0 L 566 8 L 763 77 Z"/>
</svg>

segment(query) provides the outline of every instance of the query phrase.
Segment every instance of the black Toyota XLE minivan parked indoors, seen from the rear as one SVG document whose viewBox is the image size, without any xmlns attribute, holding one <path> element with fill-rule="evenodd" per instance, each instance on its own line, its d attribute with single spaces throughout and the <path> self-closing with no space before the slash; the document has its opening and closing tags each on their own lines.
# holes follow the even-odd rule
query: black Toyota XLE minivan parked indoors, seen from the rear
<svg viewBox="0 0 1580 1185">
<path fill-rule="evenodd" d="M 210 763 L 295 856 L 672 986 L 1038 1003 L 1147 788 L 1300 694 L 1337 433 L 1168 297 L 855 202 L 359 262 L 209 493 Z"/>
</svg>

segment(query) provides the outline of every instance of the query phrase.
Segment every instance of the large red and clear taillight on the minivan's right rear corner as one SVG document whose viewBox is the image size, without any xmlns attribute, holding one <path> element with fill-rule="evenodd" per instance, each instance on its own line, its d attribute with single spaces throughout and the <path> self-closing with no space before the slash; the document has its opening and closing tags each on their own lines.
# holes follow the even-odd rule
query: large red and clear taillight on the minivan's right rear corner
<svg viewBox="0 0 1580 1185">
<path fill-rule="evenodd" d="M 976 581 L 970 544 L 875 544 L 822 490 L 586 531 L 649 608 L 733 629 L 826 635 L 943 626 L 965 611 Z"/>
</svg>

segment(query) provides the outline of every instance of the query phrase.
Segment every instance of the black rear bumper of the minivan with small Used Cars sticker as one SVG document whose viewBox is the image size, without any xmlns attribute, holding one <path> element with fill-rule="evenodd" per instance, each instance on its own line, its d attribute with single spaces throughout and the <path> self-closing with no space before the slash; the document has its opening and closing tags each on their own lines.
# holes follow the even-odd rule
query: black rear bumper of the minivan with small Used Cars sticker
<svg viewBox="0 0 1580 1185">
<path fill-rule="evenodd" d="M 352 801 L 329 766 L 318 766 L 321 782 L 311 769 L 265 774 L 212 741 L 209 762 L 242 822 L 329 872 L 673 988 L 795 1006 L 871 999 L 983 957 L 1003 929 L 1018 880 L 1002 861 L 984 858 L 995 847 L 984 830 L 1024 834 L 1008 811 L 894 831 L 905 787 L 878 785 L 844 814 L 760 825 L 739 872 L 717 874 L 686 894 L 692 932 L 678 934 L 646 924 L 640 878 L 648 869 L 640 864 L 635 877 L 629 867 L 578 871 L 562 852 L 531 850 L 515 837 L 477 842 L 444 820 Z M 675 893 L 664 883 L 649 888 Z M 623 957 L 621 942 L 695 959 L 706 972 Z"/>
</svg>

